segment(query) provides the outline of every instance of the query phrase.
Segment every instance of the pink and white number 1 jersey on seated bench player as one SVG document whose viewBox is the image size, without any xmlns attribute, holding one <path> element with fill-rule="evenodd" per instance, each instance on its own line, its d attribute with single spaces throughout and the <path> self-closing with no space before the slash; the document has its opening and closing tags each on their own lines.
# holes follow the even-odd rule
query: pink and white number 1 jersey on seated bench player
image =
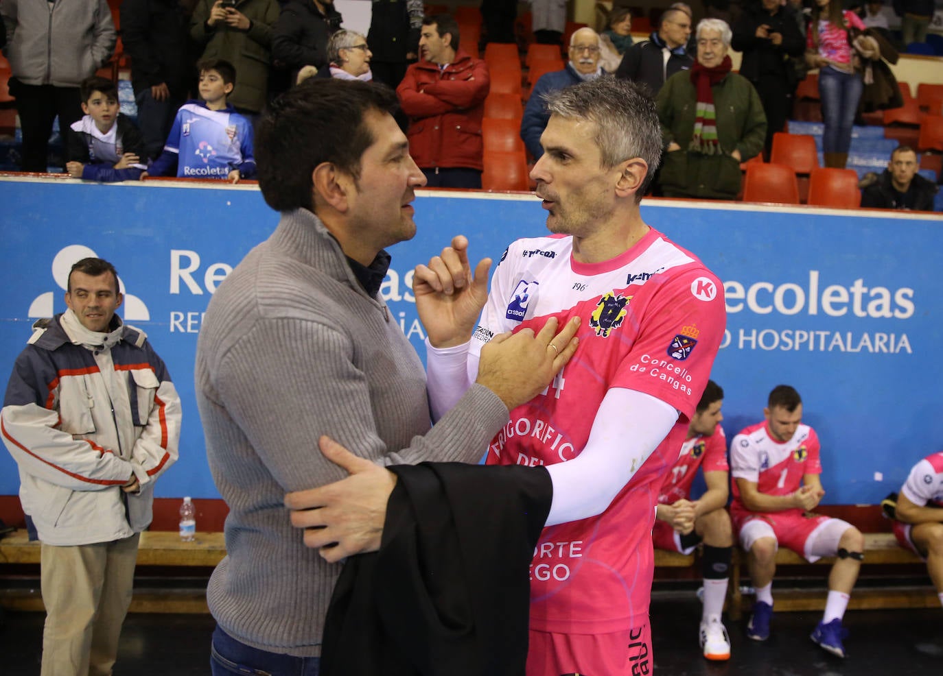
<svg viewBox="0 0 943 676">
<path fill-rule="evenodd" d="M 766 421 L 747 427 L 730 444 L 731 475 L 753 481 L 756 489 L 766 495 L 788 495 L 802 486 L 803 475 L 820 475 L 819 436 L 807 425 L 796 428 L 792 439 L 780 443 L 769 436 Z M 751 512 L 743 505 L 740 491 L 733 485 L 734 500 L 730 515 L 736 520 Z M 802 514 L 802 508 L 775 512 Z"/>
</svg>

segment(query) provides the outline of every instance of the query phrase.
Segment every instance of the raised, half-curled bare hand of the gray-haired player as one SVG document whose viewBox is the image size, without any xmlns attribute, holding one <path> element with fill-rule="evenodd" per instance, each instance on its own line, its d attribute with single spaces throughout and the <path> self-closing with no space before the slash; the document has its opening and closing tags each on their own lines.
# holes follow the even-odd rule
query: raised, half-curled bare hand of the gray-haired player
<svg viewBox="0 0 943 676">
<path fill-rule="evenodd" d="M 468 239 L 456 235 L 451 246 L 413 272 L 416 310 L 435 347 L 466 343 L 488 300 L 491 259 L 480 261 L 472 274 L 468 247 Z"/>
</svg>

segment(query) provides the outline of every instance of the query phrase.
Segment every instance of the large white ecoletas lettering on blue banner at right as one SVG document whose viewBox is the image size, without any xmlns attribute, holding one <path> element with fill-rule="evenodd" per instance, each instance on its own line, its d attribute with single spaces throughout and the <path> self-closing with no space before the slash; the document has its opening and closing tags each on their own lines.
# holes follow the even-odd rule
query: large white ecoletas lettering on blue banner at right
<svg viewBox="0 0 943 676">
<path fill-rule="evenodd" d="M 736 314 L 744 309 L 754 314 L 827 314 L 832 317 L 851 314 L 860 318 L 908 319 L 916 312 L 914 289 L 902 286 L 889 289 L 871 286 L 864 278 L 851 285 L 823 285 L 819 270 L 809 270 L 802 283 L 723 282 L 727 313 Z"/>
</svg>

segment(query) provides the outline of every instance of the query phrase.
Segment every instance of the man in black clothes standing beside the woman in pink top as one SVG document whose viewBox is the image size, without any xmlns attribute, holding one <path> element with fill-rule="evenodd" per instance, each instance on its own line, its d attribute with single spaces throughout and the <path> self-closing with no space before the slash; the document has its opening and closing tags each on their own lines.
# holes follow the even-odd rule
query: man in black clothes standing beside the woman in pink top
<svg viewBox="0 0 943 676">
<path fill-rule="evenodd" d="M 740 74 L 753 84 L 767 116 L 764 152 L 769 157 L 772 135 L 786 127 L 799 84 L 793 59 L 802 59 L 805 38 L 789 6 L 779 0 L 753 0 L 734 26 L 731 46 L 743 53 Z"/>
</svg>

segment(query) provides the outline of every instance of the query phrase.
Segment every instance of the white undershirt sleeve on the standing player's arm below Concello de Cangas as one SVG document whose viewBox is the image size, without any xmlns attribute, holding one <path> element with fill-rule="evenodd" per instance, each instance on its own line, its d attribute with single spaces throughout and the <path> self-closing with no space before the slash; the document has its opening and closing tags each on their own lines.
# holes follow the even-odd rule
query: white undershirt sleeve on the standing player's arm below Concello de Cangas
<svg viewBox="0 0 943 676">
<path fill-rule="evenodd" d="M 609 390 L 583 452 L 547 467 L 554 500 L 546 525 L 602 514 L 677 421 L 678 411 L 651 394 Z"/>
</svg>

